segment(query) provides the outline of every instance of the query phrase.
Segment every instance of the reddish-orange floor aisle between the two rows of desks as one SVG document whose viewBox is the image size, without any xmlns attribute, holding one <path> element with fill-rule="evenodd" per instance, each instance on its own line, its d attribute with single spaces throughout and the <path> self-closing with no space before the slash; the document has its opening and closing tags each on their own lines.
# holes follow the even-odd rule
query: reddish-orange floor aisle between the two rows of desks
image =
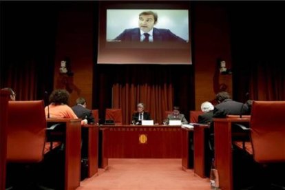
<svg viewBox="0 0 285 190">
<path fill-rule="evenodd" d="M 181 159 L 109 159 L 107 170 L 81 182 L 76 190 L 94 189 L 193 189 L 208 190 L 209 178 L 200 178 L 192 169 L 183 171 Z"/>
</svg>

